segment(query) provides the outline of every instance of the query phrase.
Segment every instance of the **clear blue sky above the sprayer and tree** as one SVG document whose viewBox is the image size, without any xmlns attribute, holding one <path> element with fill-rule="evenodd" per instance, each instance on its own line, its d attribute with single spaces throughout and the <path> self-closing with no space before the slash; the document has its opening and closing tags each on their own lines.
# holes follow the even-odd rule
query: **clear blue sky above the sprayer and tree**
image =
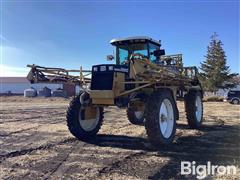
<svg viewBox="0 0 240 180">
<path fill-rule="evenodd" d="M 109 41 L 128 36 L 162 40 L 167 54 L 199 66 L 213 32 L 232 72 L 239 67 L 238 1 L 2 1 L 1 75 L 25 76 L 26 64 L 86 69 L 107 63 Z"/>
</svg>

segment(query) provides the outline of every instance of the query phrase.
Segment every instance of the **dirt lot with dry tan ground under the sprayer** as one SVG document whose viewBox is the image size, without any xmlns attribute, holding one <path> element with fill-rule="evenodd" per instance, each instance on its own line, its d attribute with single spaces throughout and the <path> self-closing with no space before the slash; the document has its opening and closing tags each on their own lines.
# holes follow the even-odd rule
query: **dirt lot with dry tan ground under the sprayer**
<svg viewBox="0 0 240 180">
<path fill-rule="evenodd" d="M 125 110 L 105 109 L 97 138 L 75 139 L 65 123 L 69 99 L 1 97 L 0 179 L 184 179 L 181 161 L 235 165 L 240 176 L 240 106 L 204 103 L 204 126 L 190 130 L 183 103 L 174 143 L 159 150 Z"/>
</svg>

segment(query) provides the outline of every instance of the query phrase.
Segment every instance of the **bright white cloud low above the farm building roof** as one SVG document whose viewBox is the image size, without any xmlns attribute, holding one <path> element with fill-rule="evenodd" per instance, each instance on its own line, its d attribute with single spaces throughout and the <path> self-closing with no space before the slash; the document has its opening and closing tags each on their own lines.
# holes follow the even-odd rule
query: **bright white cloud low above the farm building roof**
<svg viewBox="0 0 240 180">
<path fill-rule="evenodd" d="M 1 77 L 16 77 L 16 76 L 27 76 L 29 68 L 16 67 L 0 64 L 0 76 Z"/>
</svg>

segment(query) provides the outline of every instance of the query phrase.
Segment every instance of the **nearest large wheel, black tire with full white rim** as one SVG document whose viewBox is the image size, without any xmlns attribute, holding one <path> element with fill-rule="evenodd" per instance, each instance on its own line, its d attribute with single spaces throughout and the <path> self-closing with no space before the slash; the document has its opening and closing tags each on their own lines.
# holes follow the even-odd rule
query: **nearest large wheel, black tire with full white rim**
<svg viewBox="0 0 240 180">
<path fill-rule="evenodd" d="M 146 106 L 145 129 L 150 142 L 159 147 L 173 141 L 176 132 L 176 104 L 170 90 L 154 92 Z"/>
</svg>

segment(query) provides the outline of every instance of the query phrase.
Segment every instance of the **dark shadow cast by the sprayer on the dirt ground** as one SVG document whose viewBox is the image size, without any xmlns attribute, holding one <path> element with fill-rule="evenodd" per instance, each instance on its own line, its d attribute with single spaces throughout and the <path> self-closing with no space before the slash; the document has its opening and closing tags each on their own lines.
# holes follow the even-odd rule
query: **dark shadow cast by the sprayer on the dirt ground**
<svg viewBox="0 0 240 180">
<path fill-rule="evenodd" d="M 178 125 L 178 128 L 185 129 L 184 132 L 188 132 L 188 126 L 186 125 Z M 208 161 L 214 165 L 239 165 L 239 130 L 239 125 L 204 125 L 199 131 L 196 131 L 196 134 L 181 134 L 176 137 L 173 144 L 163 146 L 160 149 L 152 147 L 144 137 L 124 135 L 101 134 L 89 143 L 102 147 L 141 150 L 143 153 L 141 153 L 139 159 L 141 159 L 141 156 L 144 159 L 144 156 L 147 155 L 170 158 L 170 161 L 165 164 L 159 162 L 154 173 L 151 172 L 146 178 L 193 179 L 196 176 L 182 176 L 180 174 L 181 161 L 195 161 L 196 165 L 206 165 Z M 131 161 L 125 163 L 129 163 L 128 166 L 131 166 Z M 152 168 L 151 162 L 149 167 L 146 168 Z M 132 173 L 129 172 L 129 174 Z M 142 176 L 138 174 L 137 177 Z M 208 178 L 211 179 L 211 177 Z"/>
</svg>

